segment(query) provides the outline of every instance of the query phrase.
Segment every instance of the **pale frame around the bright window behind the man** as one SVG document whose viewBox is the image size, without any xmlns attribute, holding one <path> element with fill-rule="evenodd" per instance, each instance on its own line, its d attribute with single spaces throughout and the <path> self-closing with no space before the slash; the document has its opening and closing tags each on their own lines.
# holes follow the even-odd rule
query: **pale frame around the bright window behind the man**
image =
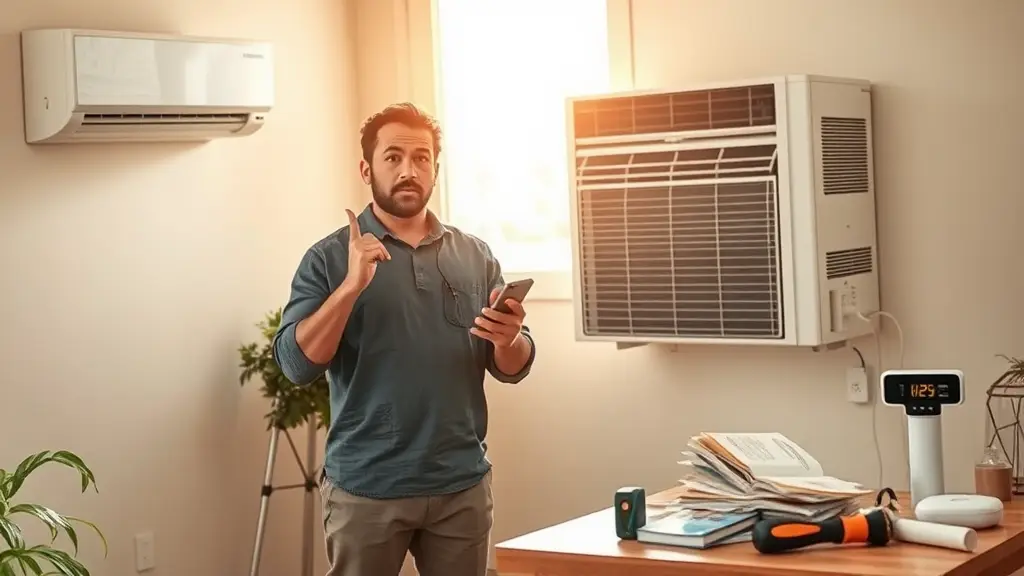
<svg viewBox="0 0 1024 576">
<path fill-rule="evenodd" d="M 594 0 L 598 1 L 598 0 Z M 604 0 L 608 11 L 608 67 L 611 89 L 632 89 L 634 81 L 633 63 L 633 22 L 632 0 Z M 432 110 L 438 117 L 441 128 L 444 126 L 443 115 L 440 113 L 439 82 L 436 81 L 438 70 L 438 38 L 434 34 L 437 27 L 436 0 L 393 0 L 396 55 L 398 59 L 397 73 L 399 84 L 409 82 L 410 97 L 418 105 Z M 414 54 L 430 54 L 429 60 L 415 57 Z M 437 175 L 435 200 L 433 209 L 446 220 L 449 215 L 446 194 L 444 154 L 441 153 L 440 170 Z M 568 202 L 566 191 L 565 202 Z M 484 239 L 485 240 L 485 239 Z M 573 270 L 504 273 L 505 281 L 532 278 L 534 288 L 529 294 L 530 300 L 572 300 Z"/>
</svg>

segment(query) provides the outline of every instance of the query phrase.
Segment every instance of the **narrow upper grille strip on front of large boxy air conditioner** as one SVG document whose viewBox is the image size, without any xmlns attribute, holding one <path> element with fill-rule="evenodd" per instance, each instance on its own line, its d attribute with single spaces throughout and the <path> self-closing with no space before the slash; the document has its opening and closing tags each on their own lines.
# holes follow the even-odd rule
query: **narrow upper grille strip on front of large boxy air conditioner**
<svg viewBox="0 0 1024 576">
<path fill-rule="evenodd" d="M 771 84 L 580 100 L 575 137 L 772 126 Z"/>
</svg>

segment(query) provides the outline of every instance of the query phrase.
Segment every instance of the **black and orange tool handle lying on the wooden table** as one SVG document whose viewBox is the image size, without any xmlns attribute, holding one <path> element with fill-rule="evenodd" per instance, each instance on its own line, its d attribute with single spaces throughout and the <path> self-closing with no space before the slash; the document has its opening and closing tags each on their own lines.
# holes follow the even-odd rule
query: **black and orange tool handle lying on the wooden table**
<svg viewBox="0 0 1024 576">
<path fill-rule="evenodd" d="M 826 543 L 884 546 L 892 538 L 892 520 L 880 507 L 821 522 L 769 519 L 755 524 L 752 536 L 754 547 L 766 554 Z"/>
</svg>

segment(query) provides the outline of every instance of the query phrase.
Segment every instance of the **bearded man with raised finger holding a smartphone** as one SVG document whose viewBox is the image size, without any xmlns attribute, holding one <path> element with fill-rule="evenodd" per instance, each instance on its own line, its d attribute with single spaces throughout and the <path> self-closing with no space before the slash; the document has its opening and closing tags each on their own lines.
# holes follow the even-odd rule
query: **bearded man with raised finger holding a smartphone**
<svg viewBox="0 0 1024 576">
<path fill-rule="evenodd" d="M 440 129 L 412 105 L 361 130 L 373 202 L 306 251 L 273 352 L 303 384 L 325 371 L 322 476 L 328 576 L 482 576 L 492 526 L 484 370 L 518 382 L 534 362 L 525 311 L 487 245 L 427 209 Z"/>
</svg>

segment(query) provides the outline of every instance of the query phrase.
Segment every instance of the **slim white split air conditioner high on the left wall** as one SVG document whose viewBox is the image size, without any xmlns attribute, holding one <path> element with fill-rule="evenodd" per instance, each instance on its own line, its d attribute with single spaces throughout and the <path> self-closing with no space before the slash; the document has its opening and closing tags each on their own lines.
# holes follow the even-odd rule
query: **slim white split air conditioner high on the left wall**
<svg viewBox="0 0 1024 576">
<path fill-rule="evenodd" d="M 22 74 L 29 143 L 243 136 L 273 106 L 263 42 L 32 30 L 22 33 Z"/>
</svg>

